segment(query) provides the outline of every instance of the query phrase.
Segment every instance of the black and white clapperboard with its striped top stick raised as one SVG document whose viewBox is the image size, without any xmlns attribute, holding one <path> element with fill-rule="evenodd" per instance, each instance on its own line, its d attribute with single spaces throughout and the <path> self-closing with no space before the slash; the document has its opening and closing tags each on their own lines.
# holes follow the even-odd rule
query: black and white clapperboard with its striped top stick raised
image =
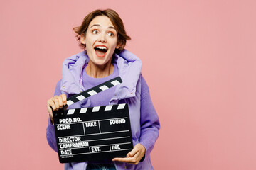
<svg viewBox="0 0 256 170">
<path fill-rule="evenodd" d="M 122 83 L 106 81 L 67 99 L 67 106 Z M 66 108 L 66 107 L 63 107 Z M 126 103 L 53 112 L 60 163 L 112 160 L 126 157 L 133 148 Z"/>
</svg>

